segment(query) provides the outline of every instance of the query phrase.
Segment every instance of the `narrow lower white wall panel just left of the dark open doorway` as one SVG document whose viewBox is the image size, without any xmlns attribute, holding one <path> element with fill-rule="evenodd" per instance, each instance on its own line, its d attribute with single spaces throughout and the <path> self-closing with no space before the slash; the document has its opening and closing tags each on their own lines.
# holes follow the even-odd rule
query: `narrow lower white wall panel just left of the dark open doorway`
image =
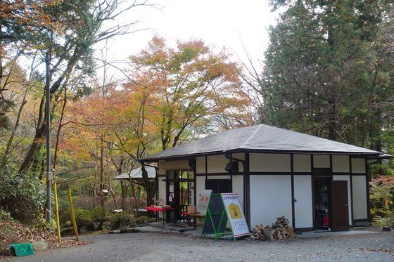
<svg viewBox="0 0 394 262">
<path fill-rule="evenodd" d="M 312 177 L 294 176 L 294 220 L 295 228 L 313 228 Z"/>
</svg>

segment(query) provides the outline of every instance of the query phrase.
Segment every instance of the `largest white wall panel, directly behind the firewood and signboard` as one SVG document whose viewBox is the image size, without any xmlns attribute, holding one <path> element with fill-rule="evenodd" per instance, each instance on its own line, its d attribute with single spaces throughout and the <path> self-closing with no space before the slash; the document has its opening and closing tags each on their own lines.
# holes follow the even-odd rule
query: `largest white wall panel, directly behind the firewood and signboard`
<svg viewBox="0 0 394 262">
<path fill-rule="evenodd" d="M 291 176 L 250 176 L 250 227 L 272 225 L 277 217 L 291 221 Z"/>
</svg>

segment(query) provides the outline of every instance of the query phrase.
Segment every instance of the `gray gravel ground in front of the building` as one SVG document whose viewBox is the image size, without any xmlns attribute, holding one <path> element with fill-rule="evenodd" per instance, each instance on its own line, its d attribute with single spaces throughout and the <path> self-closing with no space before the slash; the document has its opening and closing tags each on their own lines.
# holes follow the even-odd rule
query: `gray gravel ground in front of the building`
<svg viewBox="0 0 394 262">
<path fill-rule="evenodd" d="M 394 261 L 394 232 L 295 238 L 278 242 L 215 241 L 173 232 L 85 235 L 80 247 L 10 261 Z M 361 249 L 361 250 L 360 250 Z M 369 249 L 372 251 L 362 251 Z M 381 251 L 379 251 L 379 249 Z"/>
</svg>

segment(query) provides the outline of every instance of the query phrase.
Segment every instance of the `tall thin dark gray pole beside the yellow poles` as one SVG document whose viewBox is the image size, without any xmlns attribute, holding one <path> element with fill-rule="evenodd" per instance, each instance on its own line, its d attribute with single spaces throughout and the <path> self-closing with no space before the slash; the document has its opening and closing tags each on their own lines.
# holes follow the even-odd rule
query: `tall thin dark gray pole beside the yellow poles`
<svg viewBox="0 0 394 262">
<path fill-rule="evenodd" d="M 51 76 L 49 72 L 49 53 L 45 54 L 45 65 L 46 65 L 46 83 L 45 83 L 45 124 L 46 124 L 46 222 L 51 224 L 51 181 L 53 175 L 51 172 L 51 94 L 49 90 Z M 51 227 L 48 227 L 48 231 L 51 231 Z"/>
</svg>

